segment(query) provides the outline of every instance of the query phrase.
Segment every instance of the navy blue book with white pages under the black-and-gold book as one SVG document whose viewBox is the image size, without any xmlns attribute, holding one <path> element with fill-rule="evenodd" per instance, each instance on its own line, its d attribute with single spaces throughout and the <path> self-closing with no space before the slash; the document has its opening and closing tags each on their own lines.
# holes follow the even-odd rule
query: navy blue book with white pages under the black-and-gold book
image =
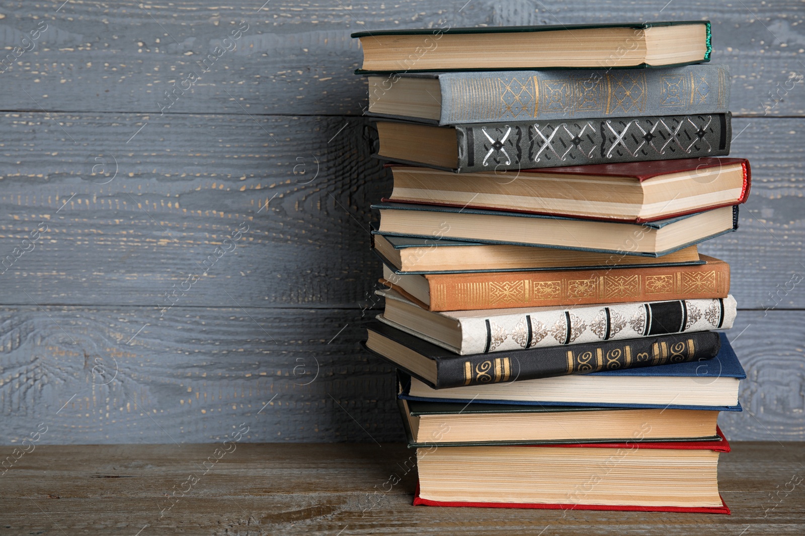
<svg viewBox="0 0 805 536">
<path fill-rule="evenodd" d="M 436 390 L 400 373 L 399 398 L 422 402 L 741 411 L 746 373 L 724 333 L 716 357 L 592 374 Z"/>
</svg>

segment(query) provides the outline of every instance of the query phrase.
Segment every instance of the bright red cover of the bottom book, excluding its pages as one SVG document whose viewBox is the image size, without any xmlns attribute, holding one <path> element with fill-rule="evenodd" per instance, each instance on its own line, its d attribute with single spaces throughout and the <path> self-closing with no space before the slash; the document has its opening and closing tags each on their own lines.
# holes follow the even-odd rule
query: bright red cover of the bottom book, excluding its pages
<svg viewBox="0 0 805 536">
<path fill-rule="evenodd" d="M 680 441 L 666 443 L 606 443 L 606 444 L 543 444 L 525 445 L 512 448 L 659 448 L 672 450 L 713 450 L 716 452 L 729 452 L 729 443 L 720 428 L 716 428 L 720 441 Z M 447 447 L 450 448 L 450 447 Z M 720 495 L 719 495 L 720 497 Z M 612 510 L 626 512 L 680 512 L 680 513 L 730 513 L 729 507 L 720 497 L 720 506 L 660 506 L 660 505 L 595 505 L 595 504 L 550 504 L 542 502 L 477 502 L 477 501 L 434 501 L 419 496 L 419 482 L 414 493 L 414 505 L 426 506 L 454 506 L 472 508 L 533 508 L 533 509 L 567 509 L 567 510 Z"/>
</svg>

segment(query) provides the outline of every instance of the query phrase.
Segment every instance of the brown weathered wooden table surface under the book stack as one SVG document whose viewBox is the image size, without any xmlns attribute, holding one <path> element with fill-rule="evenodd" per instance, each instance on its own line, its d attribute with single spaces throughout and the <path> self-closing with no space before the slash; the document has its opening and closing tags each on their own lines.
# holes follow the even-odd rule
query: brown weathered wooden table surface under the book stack
<svg viewBox="0 0 805 536">
<path fill-rule="evenodd" d="M 403 444 L 39 445 L 0 476 L 0 535 L 800 535 L 803 447 L 734 443 L 719 467 L 726 516 L 414 507 Z"/>
</svg>

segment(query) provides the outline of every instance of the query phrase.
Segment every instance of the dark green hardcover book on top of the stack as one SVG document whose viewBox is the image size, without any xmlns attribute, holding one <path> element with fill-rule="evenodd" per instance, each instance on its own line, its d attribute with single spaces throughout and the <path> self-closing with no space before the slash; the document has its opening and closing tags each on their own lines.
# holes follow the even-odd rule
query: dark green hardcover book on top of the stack
<svg viewBox="0 0 805 536">
<path fill-rule="evenodd" d="M 710 22 L 359 31 L 370 72 L 658 67 L 710 60 Z"/>
</svg>

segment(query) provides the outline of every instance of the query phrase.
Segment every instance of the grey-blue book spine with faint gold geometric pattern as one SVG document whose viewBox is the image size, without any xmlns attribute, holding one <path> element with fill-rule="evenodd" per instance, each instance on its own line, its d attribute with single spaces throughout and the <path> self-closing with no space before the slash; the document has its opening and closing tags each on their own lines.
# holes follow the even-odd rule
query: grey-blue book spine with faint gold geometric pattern
<svg viewBox="0 0 805 536">
<path fill-rule="evenodd" d="M 727 65 L 595 71 L 450 72 L 440 125 L 726 113 Z"/>
</svg>

